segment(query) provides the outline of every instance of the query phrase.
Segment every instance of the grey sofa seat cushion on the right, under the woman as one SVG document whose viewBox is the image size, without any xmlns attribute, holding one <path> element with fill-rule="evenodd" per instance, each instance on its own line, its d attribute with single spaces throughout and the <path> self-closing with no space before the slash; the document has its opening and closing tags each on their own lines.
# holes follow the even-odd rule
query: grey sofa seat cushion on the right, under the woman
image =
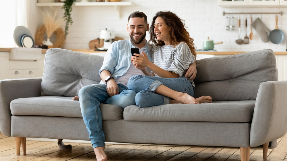
<svg viewBox="0 0 287 161">
<path fill-rule="evenodd" d="M 131 105 L 124 109 L 123 117 L 126 121 L 249 122 L 254 106 L 255 101 L 168 104 L 147 108 Z"/>
</svg>

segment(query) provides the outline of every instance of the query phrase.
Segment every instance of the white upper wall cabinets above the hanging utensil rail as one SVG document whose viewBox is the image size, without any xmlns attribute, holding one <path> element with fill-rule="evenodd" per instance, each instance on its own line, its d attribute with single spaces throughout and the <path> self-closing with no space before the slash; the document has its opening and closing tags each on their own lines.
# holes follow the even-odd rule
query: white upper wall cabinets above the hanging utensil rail
<svg viewBox="0 0 287 161">
<path fill-rule="evenodd" d="M 270 7 L 287 5 L 287 0 L 218 0 L 221 7 Z"/>
</svg>

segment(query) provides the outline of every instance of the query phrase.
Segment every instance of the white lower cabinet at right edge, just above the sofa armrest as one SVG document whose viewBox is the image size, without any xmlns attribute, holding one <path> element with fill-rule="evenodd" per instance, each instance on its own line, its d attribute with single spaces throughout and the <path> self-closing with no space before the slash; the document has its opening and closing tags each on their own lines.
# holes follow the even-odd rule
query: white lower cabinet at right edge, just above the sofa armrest
<svg viewBox="0 0 287 161">
<path fill-rule="evenodd" d="M 278 55 L 278 80 L 287 80 L 287 55 Z"/>
</svg>

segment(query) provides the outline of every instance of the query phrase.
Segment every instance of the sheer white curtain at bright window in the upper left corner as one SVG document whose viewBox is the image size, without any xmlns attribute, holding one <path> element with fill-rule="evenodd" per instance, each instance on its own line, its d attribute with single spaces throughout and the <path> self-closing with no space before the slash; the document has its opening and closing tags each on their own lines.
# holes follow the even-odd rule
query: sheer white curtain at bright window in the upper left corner
<svg viewBox="0 0 287 161">
<path fill-rule="evenodd" d="M 37 0 L 0 0 L 0 47 L 18 47 L 13 33 L 17 26 L 28 28 L 35 37 Z"/>
</svg>

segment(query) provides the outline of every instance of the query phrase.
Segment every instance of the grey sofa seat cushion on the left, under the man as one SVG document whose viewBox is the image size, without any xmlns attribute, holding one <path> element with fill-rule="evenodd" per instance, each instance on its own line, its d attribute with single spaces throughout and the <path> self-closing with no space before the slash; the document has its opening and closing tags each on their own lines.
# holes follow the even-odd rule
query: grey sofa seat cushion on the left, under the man
<svg viewBox="0 0 287 161">
<path fill-rule="evenodd" d="M 12 115 L 82 117 L 79 101 L 72 97 L 41 96 L 14 99 L 10 103 Z M 123 119 L 123 109 L 116 105 L 100 104 L 103 120 Z"/>
</svg>

